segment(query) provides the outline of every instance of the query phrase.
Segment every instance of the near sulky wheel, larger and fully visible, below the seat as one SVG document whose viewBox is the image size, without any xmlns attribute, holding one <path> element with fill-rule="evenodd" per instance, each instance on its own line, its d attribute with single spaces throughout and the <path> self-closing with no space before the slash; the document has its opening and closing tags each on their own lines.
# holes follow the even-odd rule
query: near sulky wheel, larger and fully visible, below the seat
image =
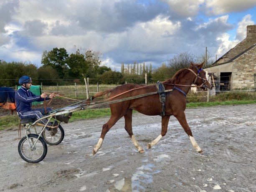
<svg viewBox="0 0 256 192">
<path fill-rule="evenodd" d="M 30 139 L 30 144 L 33 146 L 35 144 L 38 135 L 36 134 L 28 134 L 28 138 Z M 30 149 L 28 139 L 24 136 L 18 145 L 18 151 L 20 157 L 29 163 L 38 163 L 41 162 L 47 154 L 47 145 L 42 137 L 39 137 L 38 141 L 35 144 L 34 149 Z"/>
</svg>

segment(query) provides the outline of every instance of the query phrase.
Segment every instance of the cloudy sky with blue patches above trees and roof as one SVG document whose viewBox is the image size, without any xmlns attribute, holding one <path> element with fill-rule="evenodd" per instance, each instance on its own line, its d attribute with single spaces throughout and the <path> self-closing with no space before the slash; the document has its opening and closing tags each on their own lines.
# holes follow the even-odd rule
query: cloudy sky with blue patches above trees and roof
<svg viewBox="0 0 256 192">
<path fill-rule="evenodd" d="M 44 50 L 79 45 L 118 71 L 157 67 L 205 47 L 219 58 L 254 24 L 256 0 L 0 0 L 0 59 L 41 66 Z"/>
</svg>

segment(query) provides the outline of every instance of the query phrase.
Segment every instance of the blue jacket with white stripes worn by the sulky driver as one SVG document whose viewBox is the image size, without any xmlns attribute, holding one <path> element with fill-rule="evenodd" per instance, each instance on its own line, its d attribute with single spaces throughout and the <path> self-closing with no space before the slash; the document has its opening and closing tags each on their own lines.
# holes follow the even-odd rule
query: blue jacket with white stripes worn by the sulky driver
<svg viewBox="0 0 256 192">
<path fill-rule="evenodd" d="M 46 97 L 46 100 L 50 98 Z M 25 87 L 21 86 L 15 93 L 16 110 L 18 115 L 22 115 L 25 111 L 31 111 L 33 101 L 44 101 L 40 95 L 35 95 Z"/>
</svg>

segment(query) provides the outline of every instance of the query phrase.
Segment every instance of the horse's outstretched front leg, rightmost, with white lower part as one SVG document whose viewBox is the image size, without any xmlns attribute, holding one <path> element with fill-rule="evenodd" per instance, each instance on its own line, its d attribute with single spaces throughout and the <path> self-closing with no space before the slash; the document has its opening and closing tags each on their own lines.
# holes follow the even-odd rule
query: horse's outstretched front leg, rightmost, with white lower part
<svg viewBox="0 0 256 192">
<path fill-rule="evenodd" d="M 186 120 L 186 116 L 185 113 L 182 111 L 179 114 L 173 114 L 173 116 L 175 116 L 177 118 L 177 120 L 180 122 L 180 125 L 183 127 L 183 129 L 185 130 L 185 132 L 188 134 L 188 137 L 193 145 L 193 147 L 196 149 L 196 151 L 198 153 L 203 154 L 203 150 L 198 146 L 197 142 L 195 141 L 192 131 L 190 129 L 190 127 L 188 126 L 188 122 Z"/>
</svg>

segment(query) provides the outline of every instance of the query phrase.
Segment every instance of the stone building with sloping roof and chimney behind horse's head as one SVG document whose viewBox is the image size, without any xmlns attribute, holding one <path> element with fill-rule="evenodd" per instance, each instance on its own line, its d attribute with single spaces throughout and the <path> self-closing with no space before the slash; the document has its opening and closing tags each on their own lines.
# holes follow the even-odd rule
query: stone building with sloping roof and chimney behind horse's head
<svg viewBox="0 0 256 192">
<path fill-rule="evenodd" d="M 248 25 L 246 38 L 212 66 L 205 68 L 205 71 L 219 78 L 216 90 L 253 87 L 252 75 L 256 73 L 256 25 Z"/>
</svg>

